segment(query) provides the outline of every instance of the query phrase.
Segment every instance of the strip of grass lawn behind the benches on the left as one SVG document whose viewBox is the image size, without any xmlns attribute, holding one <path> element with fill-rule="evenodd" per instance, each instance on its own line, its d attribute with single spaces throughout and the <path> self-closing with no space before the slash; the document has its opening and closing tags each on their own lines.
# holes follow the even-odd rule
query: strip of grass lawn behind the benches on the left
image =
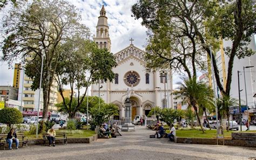
<svg viewBox="0 0 256 160">
<path fill-rule="evenodd" d="M 68 134 L 66 135 L 68 138 L 87 138 L 87 137 L 91 137 L 93 135 L 95 135 L 95 131 L 94 130 L 85 130 L 85 129 L 82 129 L 82 130 L 79 130 L 79 134 L 76 133 L 77 131 L 73 131 L 74 133 L 69 133 L 69 130 L 55 130 L 56 133 L 67 133 Z M 36 135 L 29 135 L 29 134 L 25 134 L 26 137 L 28 137 L 29 140 L 33 140 L 33 139 L 36 139 Z M 38 139 L 42 139 L 43 136 L 42 134 L 38 134 Z"/>
</svg>

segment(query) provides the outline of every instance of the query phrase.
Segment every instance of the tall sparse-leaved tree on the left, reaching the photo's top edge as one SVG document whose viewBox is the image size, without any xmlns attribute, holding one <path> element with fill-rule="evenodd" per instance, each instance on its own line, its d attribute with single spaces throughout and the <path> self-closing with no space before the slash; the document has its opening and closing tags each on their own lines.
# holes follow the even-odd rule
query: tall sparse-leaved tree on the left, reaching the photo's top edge
<svg viewBox="0 0 256 160">
<path fill-rule="evenodd" d="M 59 45 L 75 34 L 89 39 L 89 29 L 80 24 L 75 6 L 63 0 L 20 2 L 3 20 L 6 37 L 3 57 L 9 64 L 18 58 L 26 62 L 25 74 L 32 79 L 32 89 L 39 88 L 42 57 L 43 120 L 47 119 L 50 88 L 60 59 Z"/>
</svg>

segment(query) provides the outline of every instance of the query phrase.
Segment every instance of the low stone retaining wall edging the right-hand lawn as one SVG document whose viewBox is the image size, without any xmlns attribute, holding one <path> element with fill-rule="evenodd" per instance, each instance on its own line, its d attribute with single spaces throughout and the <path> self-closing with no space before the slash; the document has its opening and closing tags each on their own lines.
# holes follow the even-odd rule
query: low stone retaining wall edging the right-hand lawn
<svg viewBox="0 0 256 160">
<path fill-rule="evenodd" d="M 256 147 L 256 134 L 255 133 L 232 133 L 232 138 L 219 138 L 218 144 L 234 145 L 243 147 Z M 183 138 L 176 137 L 176 143 L 187 144 L 217 144 L 216 138 Z"/>
</svg>

